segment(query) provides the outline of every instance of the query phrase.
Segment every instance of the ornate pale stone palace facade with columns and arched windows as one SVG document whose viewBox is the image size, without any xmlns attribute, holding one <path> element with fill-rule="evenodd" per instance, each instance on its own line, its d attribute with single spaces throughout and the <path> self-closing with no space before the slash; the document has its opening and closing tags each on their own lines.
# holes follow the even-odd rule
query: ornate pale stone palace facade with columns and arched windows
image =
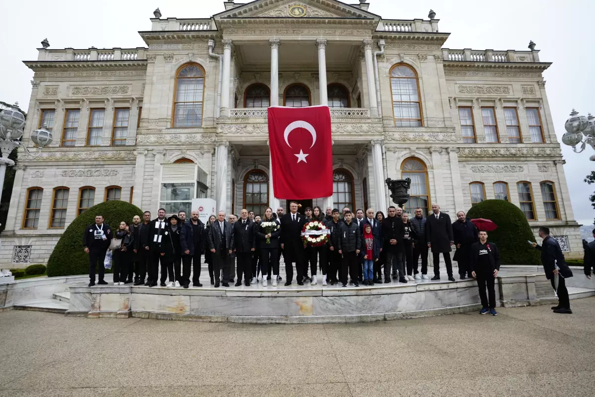
<svg viewBox="0 0 595 397">
<path fill-rule="evenodd" d="M 39 49 L 4 264 L 45 262 L 64 228 L 105 200 L 154 214 L 214 198 L 261 214 L 274 197 L 267 107 L 328 104 L 334 195 L 304 202 L 386 211 L 384 180 L 412 179 L 408 205 L 454 214 L 518 205 L 580 251 L 539 51 L 444 48 L 439 20 L 385 20 L 336 0 L 224 3 L 204 19 L 161 18 L 146 48 Z M 30 140 L 29 140 L 30 142 Z M 30 143 L 32 145 L 32 143 Z M 308 183 L 308 176 L 303 176 Z M 332 202 L 332 203 L 331 203 Z"/>
</svg>

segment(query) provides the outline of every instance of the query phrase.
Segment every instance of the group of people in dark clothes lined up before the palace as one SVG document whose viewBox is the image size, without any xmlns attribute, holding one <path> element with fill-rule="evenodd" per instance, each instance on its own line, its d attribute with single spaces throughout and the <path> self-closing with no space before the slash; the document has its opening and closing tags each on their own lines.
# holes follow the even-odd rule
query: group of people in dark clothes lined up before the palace
<svg viewBox="0 0 595 397">
<path fill-rule="evenodd" d="M 162 287 L 188 288 L 191 273 L 192 285 L 202 286 L 202 255 L 208 264 L 211 285 L 215 287 L 228 287 L 234 280 L 237 280 L 235 286 L 258 282 L 262 286 L 267 286 L 268 282 L 277 286 L 281 280 L 281 255 L 285 262 L 286 286 L 293 282 L 294 268 L 298 285 L 305 282 L 317 285 L 319 267 L 323 286 L 340 283 L 346 287 L 349 279 L 354 286 L 428 279 L 429 252 L 434 265 L 431 280 L 440 280 L 441 254 L 448 280 L 455 281 L 450 259 L 450 251 L 455 247 L 453 259 L 458 262 L 461 280 L 467 277 L 477 280 L 483 306 L 481 314 L 497 314 L 494 279 L 500 268 L 499 252 L 494 243 L 487 241 L 486 230 L 477 230 L 466 219 L 464 211 L 459 211 L 457 220 L 451 222 L 438 204 L 432 205 L 427 217 L 422 208 L 415 208 L 411 218 L 402 208 L 392 206 L 386 217 L 371 208 L 365 216 L 363 210 L 356 210 L 354 214 L 347 207 L 342 212 L 329 207 L 325 213 L 318 206 L 307 207 L 303 214 L 298 209 L 296 202 L 290 202 L 287 214 L 282 207 L 276 212 L 267 208 L 262 217 L 243 209 L 239 217 L 229 215 L 228 218 L 224 211 L 219 211 L 217 217 L 211 215 L 203 224 L 198 211 L 192 211 L 190 219 L 186 218 L 185 211 L 165 218 L 165 210 L 161 208 L 154 220 L 151 220 L 151 212 L 145 211 L 142 221 L 134 216 L 132 223 L 122 221 L 117 230 L 111 230 L 103 216 L 96 215 L 95 224 L 87 227 L 83 236 L 84 251 L 89 254 L 89 286 L 95 285 L 98 263 L 98 284 L 107 284 L 103 263 L 108 249 L 113 252 L 114 285 L 134 283 L 153 287 L 159 283 Z M 324 245 L 303 242 L 303 227 L 313 220 L 320 221 L 328 230 L 328 241 Z M 549 230 L 542 229 L 542 257 L 546 252 L 546 256 L 557 256 L 560 261 L 559 246 L 556 251 L 555 240 L 546 238 Z M 540 235 L 541 232 L 540 229 Z M 553 266 L 549 257 L 547 265 L 544 261 L 544 268 L 548 278 L 553 279 L 557 270 L 550 268 Z M 570 311 L 565 290 L 564 283 L 560 283 L 560 305 L 555 310 Z"/>
</svg>

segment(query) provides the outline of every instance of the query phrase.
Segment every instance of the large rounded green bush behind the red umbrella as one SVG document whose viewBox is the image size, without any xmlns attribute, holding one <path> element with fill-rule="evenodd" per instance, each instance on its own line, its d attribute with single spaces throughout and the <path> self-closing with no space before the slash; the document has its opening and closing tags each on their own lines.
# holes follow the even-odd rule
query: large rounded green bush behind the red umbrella
<svg viewBox="0 0 595 397">
<path fill-rule="evenodd" d="M 535 241 L 525 214 L 516 205 L 505 200 L 486 200 L 471 207 L 467 219 L 484 218 L 497 224 L 498 229 L 488 232 L 500 252 L 503 265 L 540 265 L 540 254 L 527 243 Z"/>
</svg>

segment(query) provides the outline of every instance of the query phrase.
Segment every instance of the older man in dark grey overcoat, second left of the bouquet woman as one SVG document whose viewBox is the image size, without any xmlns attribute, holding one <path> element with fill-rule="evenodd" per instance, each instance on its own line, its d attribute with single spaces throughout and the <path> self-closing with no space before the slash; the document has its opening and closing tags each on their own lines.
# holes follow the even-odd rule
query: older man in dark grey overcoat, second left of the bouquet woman
<svg viewBox="0 0 595 397">
<path fill-rule="evenodd" d="M 209 229 L 209 249 L 213 253 L 213 276 L 215 277 L 215 288 L 219 287 L 221 271 L 223 271 L 223 280 L 221 285 L 229 286 L 229 272 L 231 268 L 231 239 L 233 238 L 233 229 L 231 224 L 225 220 L 225 211 L 217 213 L 217 220 L 211 224 Z"/>
</svg>

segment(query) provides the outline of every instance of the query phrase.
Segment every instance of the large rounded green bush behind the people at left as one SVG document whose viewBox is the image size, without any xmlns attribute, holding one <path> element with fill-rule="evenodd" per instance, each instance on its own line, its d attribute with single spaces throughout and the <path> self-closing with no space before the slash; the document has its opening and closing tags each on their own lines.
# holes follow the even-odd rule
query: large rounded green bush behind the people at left
<svg viewBox="0 0 595 397">
<path fill-rule="evenodd" d="M 125 201 L 108 201 L 84 211 L 64 230 L 48 260 L 48 277 L 89 274 L 89 255 L 83 251 L 83 233 L 95 223 L 95 215 L 104 215 L 112 233 L 121 221 L 131 222 L 134 215 L 142 219 L 143 211 Z M 111 270 L 105 270 L 111 273 Z"/>
</svg>

